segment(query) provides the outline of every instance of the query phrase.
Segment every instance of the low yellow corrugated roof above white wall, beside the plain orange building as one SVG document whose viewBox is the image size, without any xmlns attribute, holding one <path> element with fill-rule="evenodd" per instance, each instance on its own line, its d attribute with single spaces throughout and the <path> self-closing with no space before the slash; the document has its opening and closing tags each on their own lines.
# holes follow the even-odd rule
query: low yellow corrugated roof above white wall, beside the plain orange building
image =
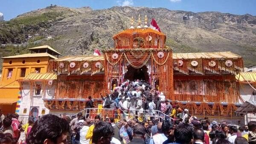
<svg viewBox="0 0 256 144">
<path fill-rule="evenodd" d="M 40 81 L 40 80 L 55 80 L 55 79 L 57 79 L 57 75 L 55 75 L 55 73 L 30 73 L 21 81 L 28 81 L 28 80 Z"/>
</svg>

